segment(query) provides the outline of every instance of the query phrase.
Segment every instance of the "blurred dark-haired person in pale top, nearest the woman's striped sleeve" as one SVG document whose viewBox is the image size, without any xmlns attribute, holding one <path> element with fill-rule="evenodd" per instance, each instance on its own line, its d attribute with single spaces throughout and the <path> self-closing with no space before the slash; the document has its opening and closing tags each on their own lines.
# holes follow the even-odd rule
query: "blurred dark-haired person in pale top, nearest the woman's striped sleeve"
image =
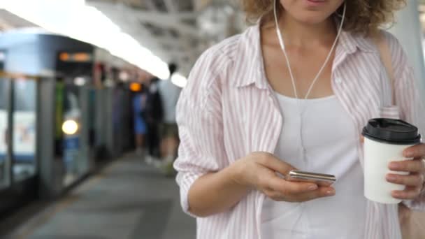
<svg viewBox="0 0 425 239">
<path fill-rule="evenodd" d="M 175 122 L 175 107 L 181 88 L 171 81 L 173 74 L 178 70 L 177 64 L 169 64 L 168 69 L 171 77 L 168 80 L 159 81 L 158 89 L 164 108 L 164 122 L 161 126 L 161 158 L 167 175 L 171 175 L 179 143 L 178 126 Z"/>
</svg>

